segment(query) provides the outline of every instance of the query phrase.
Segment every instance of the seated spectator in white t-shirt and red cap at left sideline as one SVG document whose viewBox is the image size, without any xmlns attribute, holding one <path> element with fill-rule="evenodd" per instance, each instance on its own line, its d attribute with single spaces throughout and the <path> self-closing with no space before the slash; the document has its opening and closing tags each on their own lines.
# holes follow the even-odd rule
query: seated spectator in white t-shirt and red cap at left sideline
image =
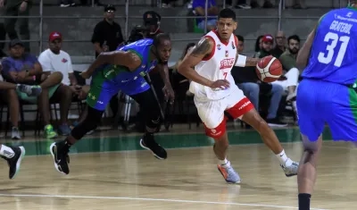
<svg viewBox="0 0 357 210">
<path fill-rule="evenodd" d="M 62 34 L 60 32 L 52 32 L 48 41 L 49 48 L 38 56 L 38 62 L 41 64 L 44 72 L 54 73 L 58 71 L 63 75 L 62 90 L 65 95 L 63 95 L 59 101 L 61 107 L 61 124 L 58 131 L 62 135 L 69 135 L 71 133 L 71 129 L 68 125 L 68 113 L 72 98 L 74 97 L 79 100 L 85 99 L 89 92 L 89 86 L 80 86 L 78 84 L 73 73 L 71 56 L 62 51 Z M 82 113 L 82 115 L 86 114 L 86 112 Z"/>
</svg>

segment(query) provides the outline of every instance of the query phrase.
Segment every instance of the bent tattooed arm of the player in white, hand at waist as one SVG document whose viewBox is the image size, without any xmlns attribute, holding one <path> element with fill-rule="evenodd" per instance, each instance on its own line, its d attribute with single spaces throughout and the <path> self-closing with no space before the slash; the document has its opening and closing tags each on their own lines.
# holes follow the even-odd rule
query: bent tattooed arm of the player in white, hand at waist
<svg viewBox="0 0 357 210">
<path fill-rule="evenodd" d="M 212 87 L 213 81 L 199 75 L 194 68 L 196 64 L 203 60 L 203 58 L 211 54 L 213 46 L 214 43 L 211 38 L 202 38 L 179 64 L 179 73 L 185 76 L 188 80 L 193 80 L 203 86 Z"/>
</svg>

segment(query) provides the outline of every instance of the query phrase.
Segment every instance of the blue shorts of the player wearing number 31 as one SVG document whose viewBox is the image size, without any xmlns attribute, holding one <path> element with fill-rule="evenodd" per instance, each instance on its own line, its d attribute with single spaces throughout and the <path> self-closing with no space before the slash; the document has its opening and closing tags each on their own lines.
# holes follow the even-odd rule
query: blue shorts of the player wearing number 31
<svg viewBox="0 0 357 210">
<path fill-rule="evenodd" d="M 297 88 L 297 117 L 303 135 L 316 141 L 327 123 L 334 140 L 357 141 L 357 93 L 353 88 L 304 79 Z"/>
</svg>

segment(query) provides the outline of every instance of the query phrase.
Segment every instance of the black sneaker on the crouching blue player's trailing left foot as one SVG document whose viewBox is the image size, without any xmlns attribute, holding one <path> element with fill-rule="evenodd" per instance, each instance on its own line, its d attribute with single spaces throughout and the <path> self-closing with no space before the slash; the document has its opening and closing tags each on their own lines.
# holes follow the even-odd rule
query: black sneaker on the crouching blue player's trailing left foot
<svg viewBox="0 0 357 210">
<path fill-rule="evenodd" d="M 68 153 L 70 152 L 70 147 L 66 142 L 60 141 L 52 143 L 50 151 L 51 155 L 54 157 L 54 168 L 58 172 L 69 174 L 70 168 L 68 167 L 68 164 L 70 164 L 70 156 Z"/>
</svg>

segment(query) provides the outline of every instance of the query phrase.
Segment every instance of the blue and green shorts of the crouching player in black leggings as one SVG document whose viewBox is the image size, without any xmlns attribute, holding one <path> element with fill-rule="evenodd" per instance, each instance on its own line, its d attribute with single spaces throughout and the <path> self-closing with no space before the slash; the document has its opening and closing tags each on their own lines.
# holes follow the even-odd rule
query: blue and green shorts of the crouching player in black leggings
<svg viewBox="0 0 357 210">
<path fill-rule="evenodd" d="M 122 77 L 107 80 L 101 71 L 92 76 L 92 82 L 87 95 L 87 105 L 99 111 L 104 111 L 106 105 L 119 91 L 132 96 L 145 92 L 150 86 L 142 76 L 132 80 L 123 80 Z"/>
</svg>

